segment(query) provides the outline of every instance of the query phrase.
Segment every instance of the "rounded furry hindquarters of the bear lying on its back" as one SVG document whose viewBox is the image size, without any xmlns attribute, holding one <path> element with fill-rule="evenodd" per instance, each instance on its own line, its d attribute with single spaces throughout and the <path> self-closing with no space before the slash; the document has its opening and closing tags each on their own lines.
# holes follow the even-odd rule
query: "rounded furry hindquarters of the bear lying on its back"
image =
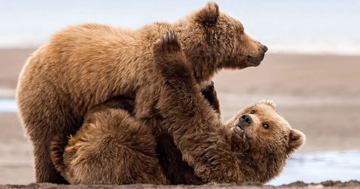
<svg viewBox="0 0 360 189">
<path fill-rule="evenodd" d="M 123 109 L 133 105 L 113 102 L 86 114 L 68 143 L 61 135 L 51 143 L 57 170 L 71 184 L 168 184 L 151 130 Z"/>
</svg>

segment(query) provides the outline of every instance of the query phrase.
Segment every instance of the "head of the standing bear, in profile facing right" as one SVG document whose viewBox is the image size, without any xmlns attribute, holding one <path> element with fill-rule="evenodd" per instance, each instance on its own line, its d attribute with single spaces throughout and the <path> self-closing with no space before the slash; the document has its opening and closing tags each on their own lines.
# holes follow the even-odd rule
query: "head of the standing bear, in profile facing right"
<svg viewBox="0 0 360 189">
<path fill-rule="evenodd" d="M 175 23 L 179 39 L 195 76 L 207 76 L 204 70 L 243 69 L 258 66 L 267 47 L 252 39 L 242 23 L 219 11 L 209 2 L 202 9 Z"/>
</svg>

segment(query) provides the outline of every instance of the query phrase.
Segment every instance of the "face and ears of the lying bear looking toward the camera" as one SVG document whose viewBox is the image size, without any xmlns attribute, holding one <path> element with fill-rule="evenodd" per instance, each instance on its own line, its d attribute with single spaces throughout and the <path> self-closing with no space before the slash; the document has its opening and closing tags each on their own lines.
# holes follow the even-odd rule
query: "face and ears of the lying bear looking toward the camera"
<svg viewBox="0 0 360 189">
<path fill-rule="evenodd" d="M 276 105 L 269 100 L 249 105 L 238 113 L 231 129 L 239 143 L 287 158 L 302 146 L 305 135 L 292 129 L 275 108 Z"/>
</svg>

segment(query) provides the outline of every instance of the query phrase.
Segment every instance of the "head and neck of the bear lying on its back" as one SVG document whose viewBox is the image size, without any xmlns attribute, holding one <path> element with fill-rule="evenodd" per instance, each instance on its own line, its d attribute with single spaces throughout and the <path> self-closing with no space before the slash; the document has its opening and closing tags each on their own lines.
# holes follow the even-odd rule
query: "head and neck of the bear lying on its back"
<svg viewBox="0 0 360 189">
<path fill-rule="evenodd" d="M 244 182 L 265 183 L 278 176 L 289 156 L 305 143 L 270 100 L 248 105 L 227 123 L 240 166 L 248 170 Z M 247 168 L 246 168 L 247 167 Z"/>
</svg>

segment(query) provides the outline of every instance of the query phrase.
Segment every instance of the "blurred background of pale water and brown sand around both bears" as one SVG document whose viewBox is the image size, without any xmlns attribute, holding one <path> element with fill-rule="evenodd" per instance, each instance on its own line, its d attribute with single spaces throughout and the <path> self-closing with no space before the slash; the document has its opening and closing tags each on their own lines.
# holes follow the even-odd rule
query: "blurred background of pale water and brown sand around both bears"
<svg viewBox="0 0 360 189">
<path fill-rule="evenodd" d="M 51 33 L 96 22 L 138 28 L 174 22 L 206 0 L 0 0 L 0 184 L 34 181 L 31 146 L 14 100 L 27 57 Z M 213 80 L 224 120 L 274 100 L 307 142 L 268 184 L 360 180 L 360 1 L 218 0 L 269 51 L 259 67 L 221 71 Z"/>
</svg>

